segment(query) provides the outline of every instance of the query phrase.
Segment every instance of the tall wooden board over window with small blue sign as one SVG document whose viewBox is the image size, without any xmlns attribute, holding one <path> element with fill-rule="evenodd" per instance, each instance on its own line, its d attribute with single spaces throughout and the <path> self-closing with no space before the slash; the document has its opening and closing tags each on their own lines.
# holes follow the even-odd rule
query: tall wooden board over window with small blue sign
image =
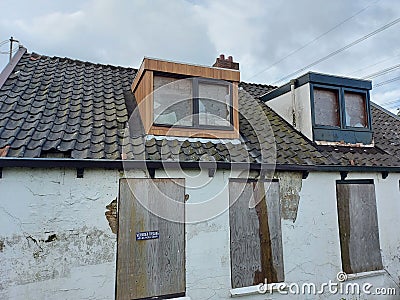
<svg viewBox="0 0 400 300">
<path fill-rule="evenodd" d="M 185 295 L 184 183 L 184 179 L 121 179 L 118 300 Z M 157 211 L 163 217 L 153 214 Z"/>
</svg>

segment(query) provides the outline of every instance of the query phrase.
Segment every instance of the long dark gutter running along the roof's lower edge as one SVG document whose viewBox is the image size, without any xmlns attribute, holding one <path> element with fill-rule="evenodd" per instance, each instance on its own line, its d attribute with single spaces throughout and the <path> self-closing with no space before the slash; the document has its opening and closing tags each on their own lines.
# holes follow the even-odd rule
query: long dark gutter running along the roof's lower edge
<svg viewBox="0 0 400 300">
<path fill-rule="evenodd" d="M 97 159 L 58 159 L 58 158 L 0 158 L 0 168 L 87 168 L 87 169 L 213 169 L 213 170 L 251 170 L 251 171 L 297 171 L 297 172 L 385 172 L 400 173 L 400 166 L 340 166 L 340 165 L 290 165 L 260 164 L 246 162 L 212 161 L 144 161 L 144 160 L 97 160 Z"/>
</svg>

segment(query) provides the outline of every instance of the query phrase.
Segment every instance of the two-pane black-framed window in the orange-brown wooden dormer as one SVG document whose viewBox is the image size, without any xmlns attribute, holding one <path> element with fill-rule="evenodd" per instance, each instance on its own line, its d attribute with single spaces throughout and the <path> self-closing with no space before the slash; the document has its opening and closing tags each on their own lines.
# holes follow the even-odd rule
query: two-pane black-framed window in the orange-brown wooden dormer
<svg viewBox="0 0 400 300">
<path fill-rule="evenodd" d="M 204 78 L 154 76 L 153 118 L 156 126 L 232 126 L 232 85 Z"/>
</svg>

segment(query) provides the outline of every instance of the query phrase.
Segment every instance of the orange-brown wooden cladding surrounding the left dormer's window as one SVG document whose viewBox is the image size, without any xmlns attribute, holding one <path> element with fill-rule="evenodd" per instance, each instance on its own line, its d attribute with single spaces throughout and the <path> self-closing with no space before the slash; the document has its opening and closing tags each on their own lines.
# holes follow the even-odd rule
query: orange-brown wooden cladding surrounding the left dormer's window
<svg viewBox="0 0 400 300">
<path fill-rule="evenodd" d="M 230 126 L 224 122 L 219 123 L 217 119 L 214 122 L 209 122 L 210 126 L 205 124 L 204 126 L 187 126 L 190 122 L 186 122 L 182 119 L 182 111 L 179 116 L 168 115 L 165 122 L 169 124 L 175 123 L 175 118 L 181 120 L 181 124 L 185 126 L 165 126 L 164 124 L 154 124 L 154 77 L 157 74 L 164 73 L 169 74 L 170 77 L 181 79 L 181 78 L 198 78 L 198 80 L 216 80 L 213 82 L 229 82 L 231 91 L 231 107 L 230 109 Z M 206 82 L 206 81 L 204 81 Z M 211 81 L 210 81 L 211 82 Z M 201 66 L 187 63 L 180 63 L 174 61 L 160 60 L 155 58 L 145 57 L 138 71 L 136 72 L 135 78 L 131 85 L 131 91 L 134 94 L 137 108 L 139 110 L 141 122 L 143 125 L 144 134 L 146 135 L 158 135 L 158 136 L 174 136 L 174 137 L 196 137 L 196 138 L 212 138 L 212 139 L 239 139 L 239 82 L 240 82 L 240 71 L 238 69 L 226 69 L 218 66 Z M 191 92 L 193 94 L 193 91 Z M 189 98 L 187 93 L 186 98 Z M 173 96 L 172 96 L 173 97 Z M 206 96 L 207 97 L 207 96 Z M 161 99 L 161 98 L 160 98 Z M 173 99 L 173 98 L 171 98 Z M 221 98 L 222 99 L 222 98 Z M 158 108 L 158 115 L 164 109 L 163 107 Z M 187 111 L 193 108 L 187 109 Z M 211 113 L 213 109 L 207 110 L 206 112 Z M 216 109 L 216 115 L 222 111 Z M 158 118 L 157 115 L 157 118 Z M 220 114 L 225 117 L 224 114 Z M 228 119 L 228 114 L 226 114 Z M 179 117 L 179 118 L 178 118 Z M 161 126 L 160 126 L 161 125 Z M 223 126 L 219 126 L 223 125 Z"/>
</svg>

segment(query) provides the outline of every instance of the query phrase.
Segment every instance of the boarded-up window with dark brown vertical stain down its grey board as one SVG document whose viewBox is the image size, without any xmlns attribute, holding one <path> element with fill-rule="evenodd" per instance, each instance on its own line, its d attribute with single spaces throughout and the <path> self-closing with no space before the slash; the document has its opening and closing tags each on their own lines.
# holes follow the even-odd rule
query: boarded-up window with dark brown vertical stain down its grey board
<svg viewBox="0 0 400 300">
<path fill-rule="evenodd" d="M 229 200 L 232 287 L 283 281 L 279 183 L 231 180 Z"/>
</svg>

